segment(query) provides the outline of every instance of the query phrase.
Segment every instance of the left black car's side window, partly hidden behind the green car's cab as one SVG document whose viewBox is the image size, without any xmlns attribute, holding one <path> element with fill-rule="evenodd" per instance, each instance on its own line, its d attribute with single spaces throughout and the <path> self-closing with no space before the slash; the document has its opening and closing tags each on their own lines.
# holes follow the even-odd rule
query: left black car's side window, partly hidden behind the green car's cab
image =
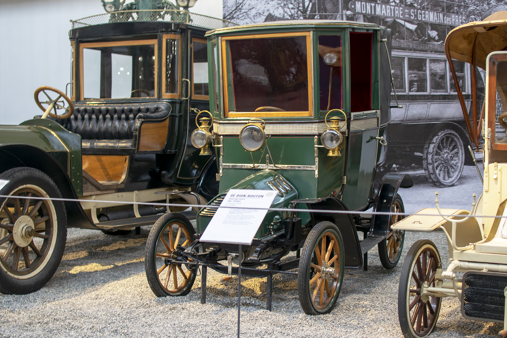
<svg viewBox="0 0 507 338">
<path fill-rule="evenodd" d="M 209 100 L 208 47 L 198 37 L 192 39 L 192 98 Z"/>
</svg>

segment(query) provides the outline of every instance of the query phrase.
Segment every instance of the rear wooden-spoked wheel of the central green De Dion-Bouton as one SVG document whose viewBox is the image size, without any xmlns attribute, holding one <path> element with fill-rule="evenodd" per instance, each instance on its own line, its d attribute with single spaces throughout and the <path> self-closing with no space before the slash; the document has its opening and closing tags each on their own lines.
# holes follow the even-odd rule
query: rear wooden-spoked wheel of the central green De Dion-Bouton
<svg viewBox="0 0 507 338">
<path fill-rule="evenodd" d="M 402 197 L 398 194 L 396 194 L 396 197 L 394 198 L 394 205 L 392 208 L 393 212 L 405 212 L 405 207 L 403 205 Z M 392 224 L 396 223 L 397 221 L 402 220 L 405 218 L 403 215 L 392 215 L 389 217 L 389 227 L 388 229 L 391 229 Z M 390 240 L 393 240 L 393 250 L 387 250 L 387 245 L 390 244 Z M 398 262 L 400 261 L 400 257 L 402 256 L 403 251 L 403 243 L 405 242 L 405 231 L 404 230 L 390 230 L 389 235 L 387 235 L 386 239 L 384 239 L 382 242 L 378 244 L 379 249 L 379 258 L 380 262 L 382 263 L 382 266 L 385 269 L 394 269 Z M 397 248 L 397 251 L 395 249 Z"/>
</svg>

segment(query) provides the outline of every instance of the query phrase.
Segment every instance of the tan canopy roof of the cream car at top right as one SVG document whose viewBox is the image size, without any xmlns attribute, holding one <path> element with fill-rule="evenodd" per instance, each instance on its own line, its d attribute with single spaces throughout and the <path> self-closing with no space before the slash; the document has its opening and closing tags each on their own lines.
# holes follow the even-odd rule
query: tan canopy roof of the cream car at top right
<svg viewBox="0 0 507 338">
<path fill-rule="evenodd" d="M 475 50 L 474 50 L 475 45 Z M 507 11 L 488 16 L 484 21 L 469 22 L 451 30 L 445 41 L 446 54 L 453 59 L 474 63 L 486 69 L 486 57 L 507 47 Z"/>
</svg>

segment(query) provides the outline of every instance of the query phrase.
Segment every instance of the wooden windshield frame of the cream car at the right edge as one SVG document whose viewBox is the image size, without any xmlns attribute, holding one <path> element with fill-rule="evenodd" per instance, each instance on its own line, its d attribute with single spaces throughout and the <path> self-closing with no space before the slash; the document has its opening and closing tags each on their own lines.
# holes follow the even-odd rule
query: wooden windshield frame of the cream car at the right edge
<svg viewBox="0 0 507 338">
<path fill-rule="evenodd" d="M 495 143 L 496 135 L 496 67 L 498 61 L 507 62 L 507 53 L 494 54 L 489 56 L 487 59 L 487 75 L 486 81 L 486 114 L 487 114 L 487 128 L 491 130 L 491 135 L 487 133 L 486 137 L 490 137 L 491 149 L 493 150 L 507 150 L 506 143 Z M 494 90 L 493 90 L 494 89 Z M 486 140 L 486 143 L 487 140 Z M 486 144 L 487 145 L 487 144 Z"/>
</svg>

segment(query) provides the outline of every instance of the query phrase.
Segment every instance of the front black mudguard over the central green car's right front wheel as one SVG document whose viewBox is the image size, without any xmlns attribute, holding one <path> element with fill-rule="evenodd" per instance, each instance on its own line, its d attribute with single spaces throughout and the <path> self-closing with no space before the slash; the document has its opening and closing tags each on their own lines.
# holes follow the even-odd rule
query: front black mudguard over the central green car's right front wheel
<svg viewBox="0 0 507 338">
<path fill-rule="evenodd" d="M 296 203 L 305 203 L 311 210 L 347 210 L 345 204 L 336 197 L 325 197 L 319 199 L 301 199 L 292 201 Z M 352 215 L 348 213 L 324 213 L 310 212 L 313 225 L 330 221 L 336 224 L 343 238 L 343 248 L 345 252 L 345 269 L 359 269 L 363 266 L 363 254 L 359 245 L 359 238 L 355 229 Z"/>
</svg>

